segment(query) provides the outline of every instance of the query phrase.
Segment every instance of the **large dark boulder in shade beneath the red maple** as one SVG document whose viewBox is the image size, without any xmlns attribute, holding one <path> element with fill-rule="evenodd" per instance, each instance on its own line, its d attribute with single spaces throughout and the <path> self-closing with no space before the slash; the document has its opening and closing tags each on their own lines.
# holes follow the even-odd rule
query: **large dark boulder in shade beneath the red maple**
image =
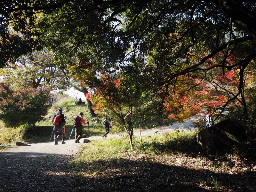
<svg viewBox="0 0 256 192">
<path fill-rule="evenodd" d="M 246 140 L 244 128 L 230 120 L 212 125 L 195 136 L 197 143 L 209 151 L 231 149 L 233 145 Z"/>
</svg>

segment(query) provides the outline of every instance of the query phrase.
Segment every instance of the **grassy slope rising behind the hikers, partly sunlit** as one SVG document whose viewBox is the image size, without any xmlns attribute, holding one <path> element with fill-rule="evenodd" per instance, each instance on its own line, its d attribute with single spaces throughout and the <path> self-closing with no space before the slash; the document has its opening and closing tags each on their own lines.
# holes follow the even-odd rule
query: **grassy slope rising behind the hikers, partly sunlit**
<svg viewBox="0 0 256 192">
<path fill-rule="evenodd" d="M 48 114 L 45 116 L 44 121 L 40 121 L 36 123 L 35 132 L 31 134 L 31 126 L 24 125 L 16 128 L 5 127 L 2 122 L 0 122 L 0 144 L 8 144 L 14 143 L 16 141 L 24 142 L 24 141 L 41 141 L 41 140 L 50 140 L 53 126 L 52 126 L 52 117 L 58 111 L 58 108 L 62 108 L 62 112 L 64 115 L 68 116 L 66 121 L 67 128 L 67 137 L 70 136 L 70 133 L 73 128 L 74 116 L 78 115 L 80 112 L 84 113 L 84 121 L 89 121 L 89 131 L 88 125 L 84 125 L 83 134 L 89 134 L 89 136 L 94 135 L 103 135 L 105 133 L 104 126 L 101 123 L 92 123 L 92 119 L 95 117 L 91 117 L 88 114 L 87 105 L 75 105 L 75 101 L 73 98 L 66 98 L 60 100 L 56 105 L 52 106 L 48 110 Z M 96 115 L 97 112 L 96 112 Z M 101 117 L 96 117 L 100 119 Z M 115 127 L 111 130 L 112 133 L 120 132 Z M 75 132 L 72 132 L 72 136 L 75 136 Z M 53 138 L 53 136 L 52 136 Z"/>
</svg>

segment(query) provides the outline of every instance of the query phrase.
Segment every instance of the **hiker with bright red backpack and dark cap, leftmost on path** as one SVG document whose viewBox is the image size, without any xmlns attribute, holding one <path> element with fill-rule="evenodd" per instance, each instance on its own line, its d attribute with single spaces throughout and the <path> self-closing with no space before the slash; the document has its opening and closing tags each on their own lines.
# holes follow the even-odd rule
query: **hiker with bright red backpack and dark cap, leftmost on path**
<svg viewBox="0 0 256 192">
<path fill-rule="evenodd" d="M 65 123 L 65 118 L 62 113 L 62 108 L 58 108 L 58 112 L 54 114 L 52 118 L 52 124 L 54 125 L 54 141 L 55 145 L 58 145 L 58 140 L 60 139 L 63 133 L 63 124 Z"/>
</svg>

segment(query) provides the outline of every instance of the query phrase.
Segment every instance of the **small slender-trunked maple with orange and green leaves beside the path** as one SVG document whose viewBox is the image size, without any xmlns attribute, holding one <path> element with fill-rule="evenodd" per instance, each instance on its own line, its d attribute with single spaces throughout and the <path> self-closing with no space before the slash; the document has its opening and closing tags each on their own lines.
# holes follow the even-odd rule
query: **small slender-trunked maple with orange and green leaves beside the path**
<svg viewBox="0 0 256 192">
<path fill-rule="evenodd" d="M 95 110 L 99 110 L 102 113 L 101 115 L 105 117 L 111 114 L 118 117 L 129 138 L 132 150 L 134 125 L 127 125 L 124 111 L 127 109 L 131 111 L 133 108 L 140 107 L 142 104 L 140 91 L 142 89 L 136 90 L 137 86 L 132 85 L 134 82 L 125 80 L 125 76 L 120 76 L 120 73 L 113 76 L 94 69 L 89 63 L 76 62 L 76 64 L 70 65 L 68 69 L 73 77 L 80 81 L 82 86 L 90 87 L 86 99 L 93 101 L 96 105 Z M 108 111 L 111 111 L 111 114 Z"/>
</svg>

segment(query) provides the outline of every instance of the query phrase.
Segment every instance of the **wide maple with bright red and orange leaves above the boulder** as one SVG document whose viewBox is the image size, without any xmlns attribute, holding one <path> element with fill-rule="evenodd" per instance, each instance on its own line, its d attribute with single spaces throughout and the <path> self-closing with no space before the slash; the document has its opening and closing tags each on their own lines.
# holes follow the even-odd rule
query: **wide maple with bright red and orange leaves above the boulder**
<svg viewBox="0 0 256 192">
<path fill-rule="evenodd" d="M 205 62 L 202 72 L 197 71 L 176 79 L 175 88 L 170 90 L 164 103 L 166 109 L 172 112 L 169 117 L 183 120 L 193 113 L 202 111 L 210 116 L 216 111 L 221 111 L 215 115 L 219 116 L 226 107 L 231 109 L 235 106 L 243 106 L 247 109 L 246 92 L 254 87 L 252 84 L 255 73 L 254 63 L 248 66 L 250 70 L 244 72 L 244 76 L 241 77 L 241 68 L 234 66 L 234 58 L 228 58 L 230 66 L 234 68 L 230 68 L 225 75 L 222 75 L 222 67 L 218 59 L 220 55 Z M 208 66 L 213 69 L 205 71 Z"/>
</svg>

